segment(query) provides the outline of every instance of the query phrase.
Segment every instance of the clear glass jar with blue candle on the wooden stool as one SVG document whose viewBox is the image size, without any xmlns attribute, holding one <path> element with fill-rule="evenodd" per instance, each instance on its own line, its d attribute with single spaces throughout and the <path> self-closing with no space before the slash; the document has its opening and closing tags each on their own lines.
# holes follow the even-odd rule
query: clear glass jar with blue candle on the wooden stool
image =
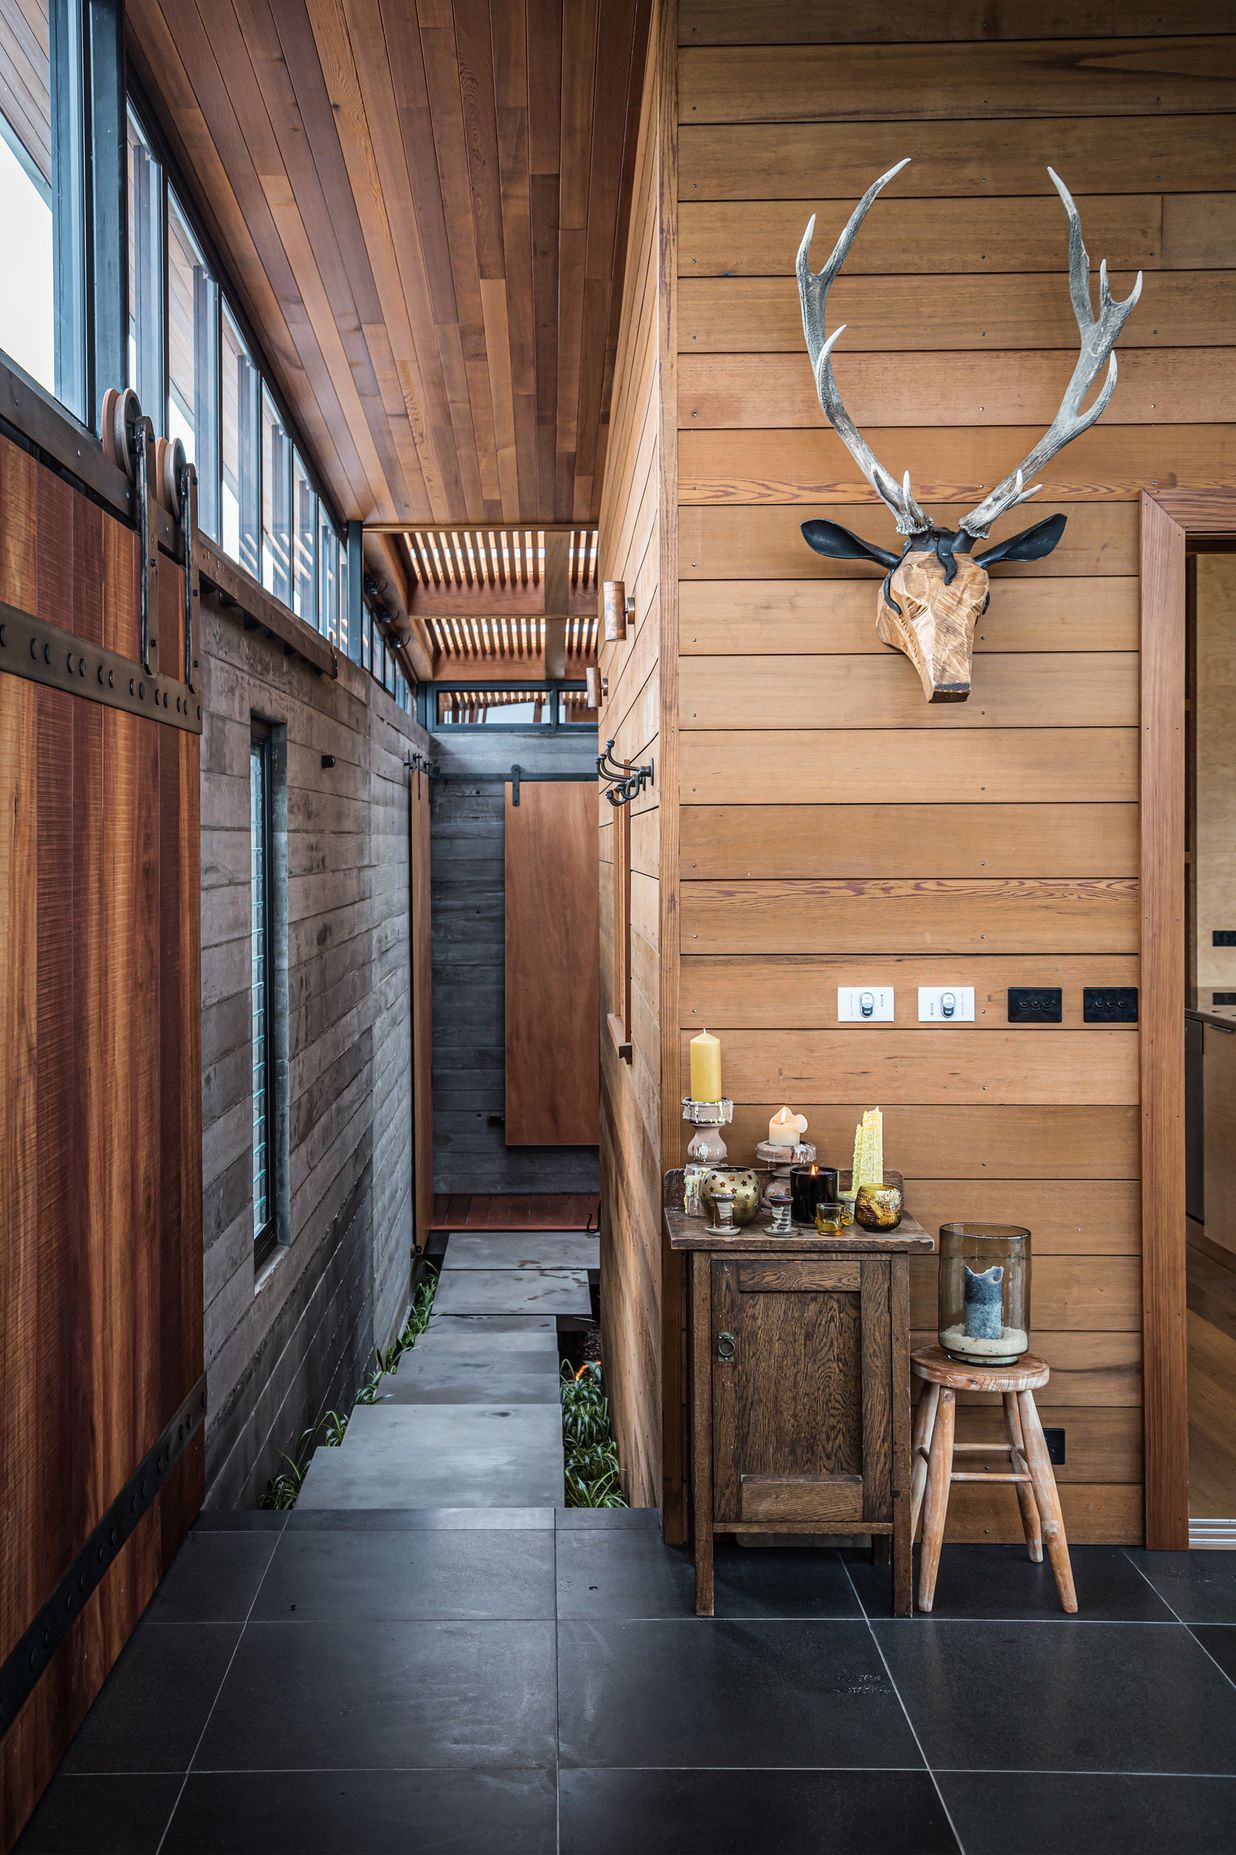
<svg viewBox="0 0 1236 1855">
<path fill-rule="evenodd" d="M 941 1224 L 939 1343 L 963 1365 L 1013 1365 L 1030 1345 L 1030 1232 Z"/>
</svg>

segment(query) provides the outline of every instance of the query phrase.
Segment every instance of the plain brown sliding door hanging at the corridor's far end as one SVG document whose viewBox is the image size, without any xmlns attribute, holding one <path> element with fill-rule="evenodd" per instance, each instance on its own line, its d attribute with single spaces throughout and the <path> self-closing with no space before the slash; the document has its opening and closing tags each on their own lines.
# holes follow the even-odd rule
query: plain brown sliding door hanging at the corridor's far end
<svg viewBox="0 0 1236 1855">
<path fill-rule="evenodd" d="M 507 787 L 509 1146 L 598 1143 L 596 857 L 592 781 Z"/>
</svg>

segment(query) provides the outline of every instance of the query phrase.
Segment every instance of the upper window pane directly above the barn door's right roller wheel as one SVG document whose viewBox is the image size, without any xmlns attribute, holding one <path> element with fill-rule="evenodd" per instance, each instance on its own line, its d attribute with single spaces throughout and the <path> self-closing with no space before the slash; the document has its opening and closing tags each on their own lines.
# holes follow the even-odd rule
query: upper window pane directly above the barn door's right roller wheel
<svg viewBox="0 0 1236 1855">
<path fill-rule="evenodd" d="M 197 518 L 219 536 L 219 286 L 167 197 L 167 436 L 197 464 Z"/>
</svg>

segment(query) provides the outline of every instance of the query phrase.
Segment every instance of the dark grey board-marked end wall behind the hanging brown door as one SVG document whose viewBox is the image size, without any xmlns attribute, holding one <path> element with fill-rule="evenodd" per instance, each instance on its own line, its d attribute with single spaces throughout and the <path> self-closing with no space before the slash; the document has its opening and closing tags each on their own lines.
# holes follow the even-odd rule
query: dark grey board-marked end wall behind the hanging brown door
<svg viewBox="0 0 1236 1855">
<path fill-rule="evenodd" d="M 525 774 L 596 779 L 592 729 L 434 735 L 434 1189 L 596 1191 L 596 1146 L 507 1146 L 505 785 Z M 553 1028 L 546 1028 L 551 1035 Z"/>
</svg>

